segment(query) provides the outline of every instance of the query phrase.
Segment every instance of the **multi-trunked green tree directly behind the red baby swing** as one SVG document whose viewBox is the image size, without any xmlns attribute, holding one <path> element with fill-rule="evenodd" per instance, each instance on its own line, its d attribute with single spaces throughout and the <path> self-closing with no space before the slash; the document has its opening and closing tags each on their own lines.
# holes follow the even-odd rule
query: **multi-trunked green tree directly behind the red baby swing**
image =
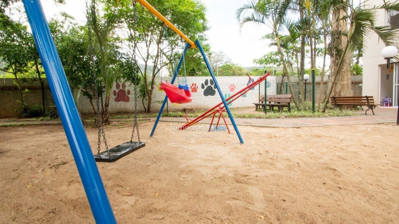
<svg viewBox="0 0 399 224">
<path fill-rule="evenodd" d="M 205 6 L 198 0 L 149 0 L 148 2 L 190 39 L 205 40 L 203 32 L 208 29 Z M 128 31 L 124 32 L 127 35 L 122 38 L 127 42 L 125 45 L 131 57 L 137 57 L 135 63 L 142 77 L 144 97 L 147 98 L 146 104 L 143 100 L 143 106 L 146 112 L 151 112 L 152 93 L 156 84 L 155 77 L 159 76 L 163 67 L 173 68 L 171 65 L 172 51 L 177 52 L 176 49 L 181 48 L 184 43 L 171 29 L 164 29 L 162 22 L 140 4 L 135 6 L 137 18 L 134 18 L 131 0 L 107 1 L 105 6 L 105 12 L 107 14 L 116 13 L 120 21 L 120 28 Z M 166 40 L 166 35 L 169 36 L 170 43 Z M 162 54 L 164 54 L 165 60 L 161 60 Z M 190 49 L 186 58 L 190 74 L 203 71 L 203 69 L 199 69 L 200 54 L 198 51 Z M 144 67 L 140 67 L 138 61 L 143 62 Z"/>
</svg>

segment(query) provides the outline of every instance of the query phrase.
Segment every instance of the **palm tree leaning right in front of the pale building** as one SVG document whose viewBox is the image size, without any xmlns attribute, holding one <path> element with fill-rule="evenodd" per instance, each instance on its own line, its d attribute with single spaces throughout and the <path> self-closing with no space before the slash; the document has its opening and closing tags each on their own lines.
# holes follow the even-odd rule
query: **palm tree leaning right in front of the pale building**
<svg viewBox="0 0 399 224">
<path fill-rule="evenodd" d="M 336 84 L 337 78 L 341 72 L 342 65 L 344 64 L 344 59 L 348 51 L 353 52 L 357 48 L 357 46 L 361 45 L 363 43 L 363 40 L 366 39 L 368 35 L 373 32 L 379 36 L 379 38 L 385 43 L 385 45 L 396 45 L 398 37 L 397 30 L 392 29 L 389 26 L 375 26 L 375 19 L 377 9 L 399 10 L 399 3 L 386 3 L 381 6 L 375 6 L 372 8 L 365 8 L 364 6 L 354 7 L 351 4 L 348 4 L 346 0 L 336 3 L 337 4 L 333 6 L 333 10 L 343 10 L 344 12 L 348 11 L 348 13 L 333 22 L 347 20 L 349 24 L 348 31 L 344 33 L 344 35 L 346 36 L 346 43 L 340 55 L 340 61 L 338 62 L 334 73 L 330 74 L 332 76 L 330 81 L 331 84 L 328 87 L 328 91 L 324 98 L 325 104 L 322 108 L 322 112 L 326 111 L 328 99 L 331 96 L 332 89 Z"/>
</svg>

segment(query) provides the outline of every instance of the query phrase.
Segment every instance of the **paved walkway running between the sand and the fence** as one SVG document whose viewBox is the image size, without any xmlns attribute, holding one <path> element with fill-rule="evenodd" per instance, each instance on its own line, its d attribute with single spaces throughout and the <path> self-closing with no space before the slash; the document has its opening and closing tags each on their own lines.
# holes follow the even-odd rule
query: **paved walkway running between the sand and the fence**
<svg viewBox="0 0 399 224">
<path fill-rule="evenodd" d="M 359 111 L 359 116 L 344 116 L 344 117 L 328 117 L 328 118 L 235 118 L 237 125 L 257 126 L 257 127 L 271 127 L 271 128 L 300 128 L 309 126 L 331 126 L 331 125 L 350 125 L 350 124 L 383 124 L 396 123 L 397 108 L 375 108 L 375 115 L 369 111 L 369 115 L 364 115 L 363 111 Z M 155 118 L 144 118 L 145 120 L 155 120 Z M 142 120 L 144 120 L 142 119 Z M 126 122 L 131 120 L 126 119 L 111 119 L 113 122 Z M 227 124 L 231 125 L 227 118 Z M 163 122 L 179 122 L 186 123 L 185 118 L 161 118 Z M 200 124 L 209 124 L 211 118 L 207 118 L 199 122 Z M 51 121 L 31 121 L 31 119 L 16 119 L 16 120 L 0 120 L 1 124 L 61 124 L 59 120 Z"/>
</svg>

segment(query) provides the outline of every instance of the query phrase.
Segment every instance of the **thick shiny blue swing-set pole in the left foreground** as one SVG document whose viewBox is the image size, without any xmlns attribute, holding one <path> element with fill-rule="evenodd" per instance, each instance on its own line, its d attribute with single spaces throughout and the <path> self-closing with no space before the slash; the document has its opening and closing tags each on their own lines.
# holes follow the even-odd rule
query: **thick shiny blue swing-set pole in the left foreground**
<svg viewBox="0 0 399 224">
<path fill-rule="evenodd" d="M 95 222 L 116 224 L 40 0 L 22 2 Z"/>
</svg>

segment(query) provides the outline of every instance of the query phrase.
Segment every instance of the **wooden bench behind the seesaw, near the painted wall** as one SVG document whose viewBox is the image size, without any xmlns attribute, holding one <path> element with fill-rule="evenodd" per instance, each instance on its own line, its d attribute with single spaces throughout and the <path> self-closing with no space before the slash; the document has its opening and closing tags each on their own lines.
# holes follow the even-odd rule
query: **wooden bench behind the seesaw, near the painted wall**
<svg viewBox="0 0 399 224">
<path fill-rule="evenodd" d="M 274 107 L 279 108 L 280 112 L 286 107 L 288 112 L 291 112 L 292 94 L 279 94 L 279 95 L 267 95 L 266 96 L 266 106 L 269 106 L 270 111 L 273 111 Z M 255 110 L 265 109 L 265 95 L 261 95 L 258 103 L 255 104 Z"/>
</svg>

